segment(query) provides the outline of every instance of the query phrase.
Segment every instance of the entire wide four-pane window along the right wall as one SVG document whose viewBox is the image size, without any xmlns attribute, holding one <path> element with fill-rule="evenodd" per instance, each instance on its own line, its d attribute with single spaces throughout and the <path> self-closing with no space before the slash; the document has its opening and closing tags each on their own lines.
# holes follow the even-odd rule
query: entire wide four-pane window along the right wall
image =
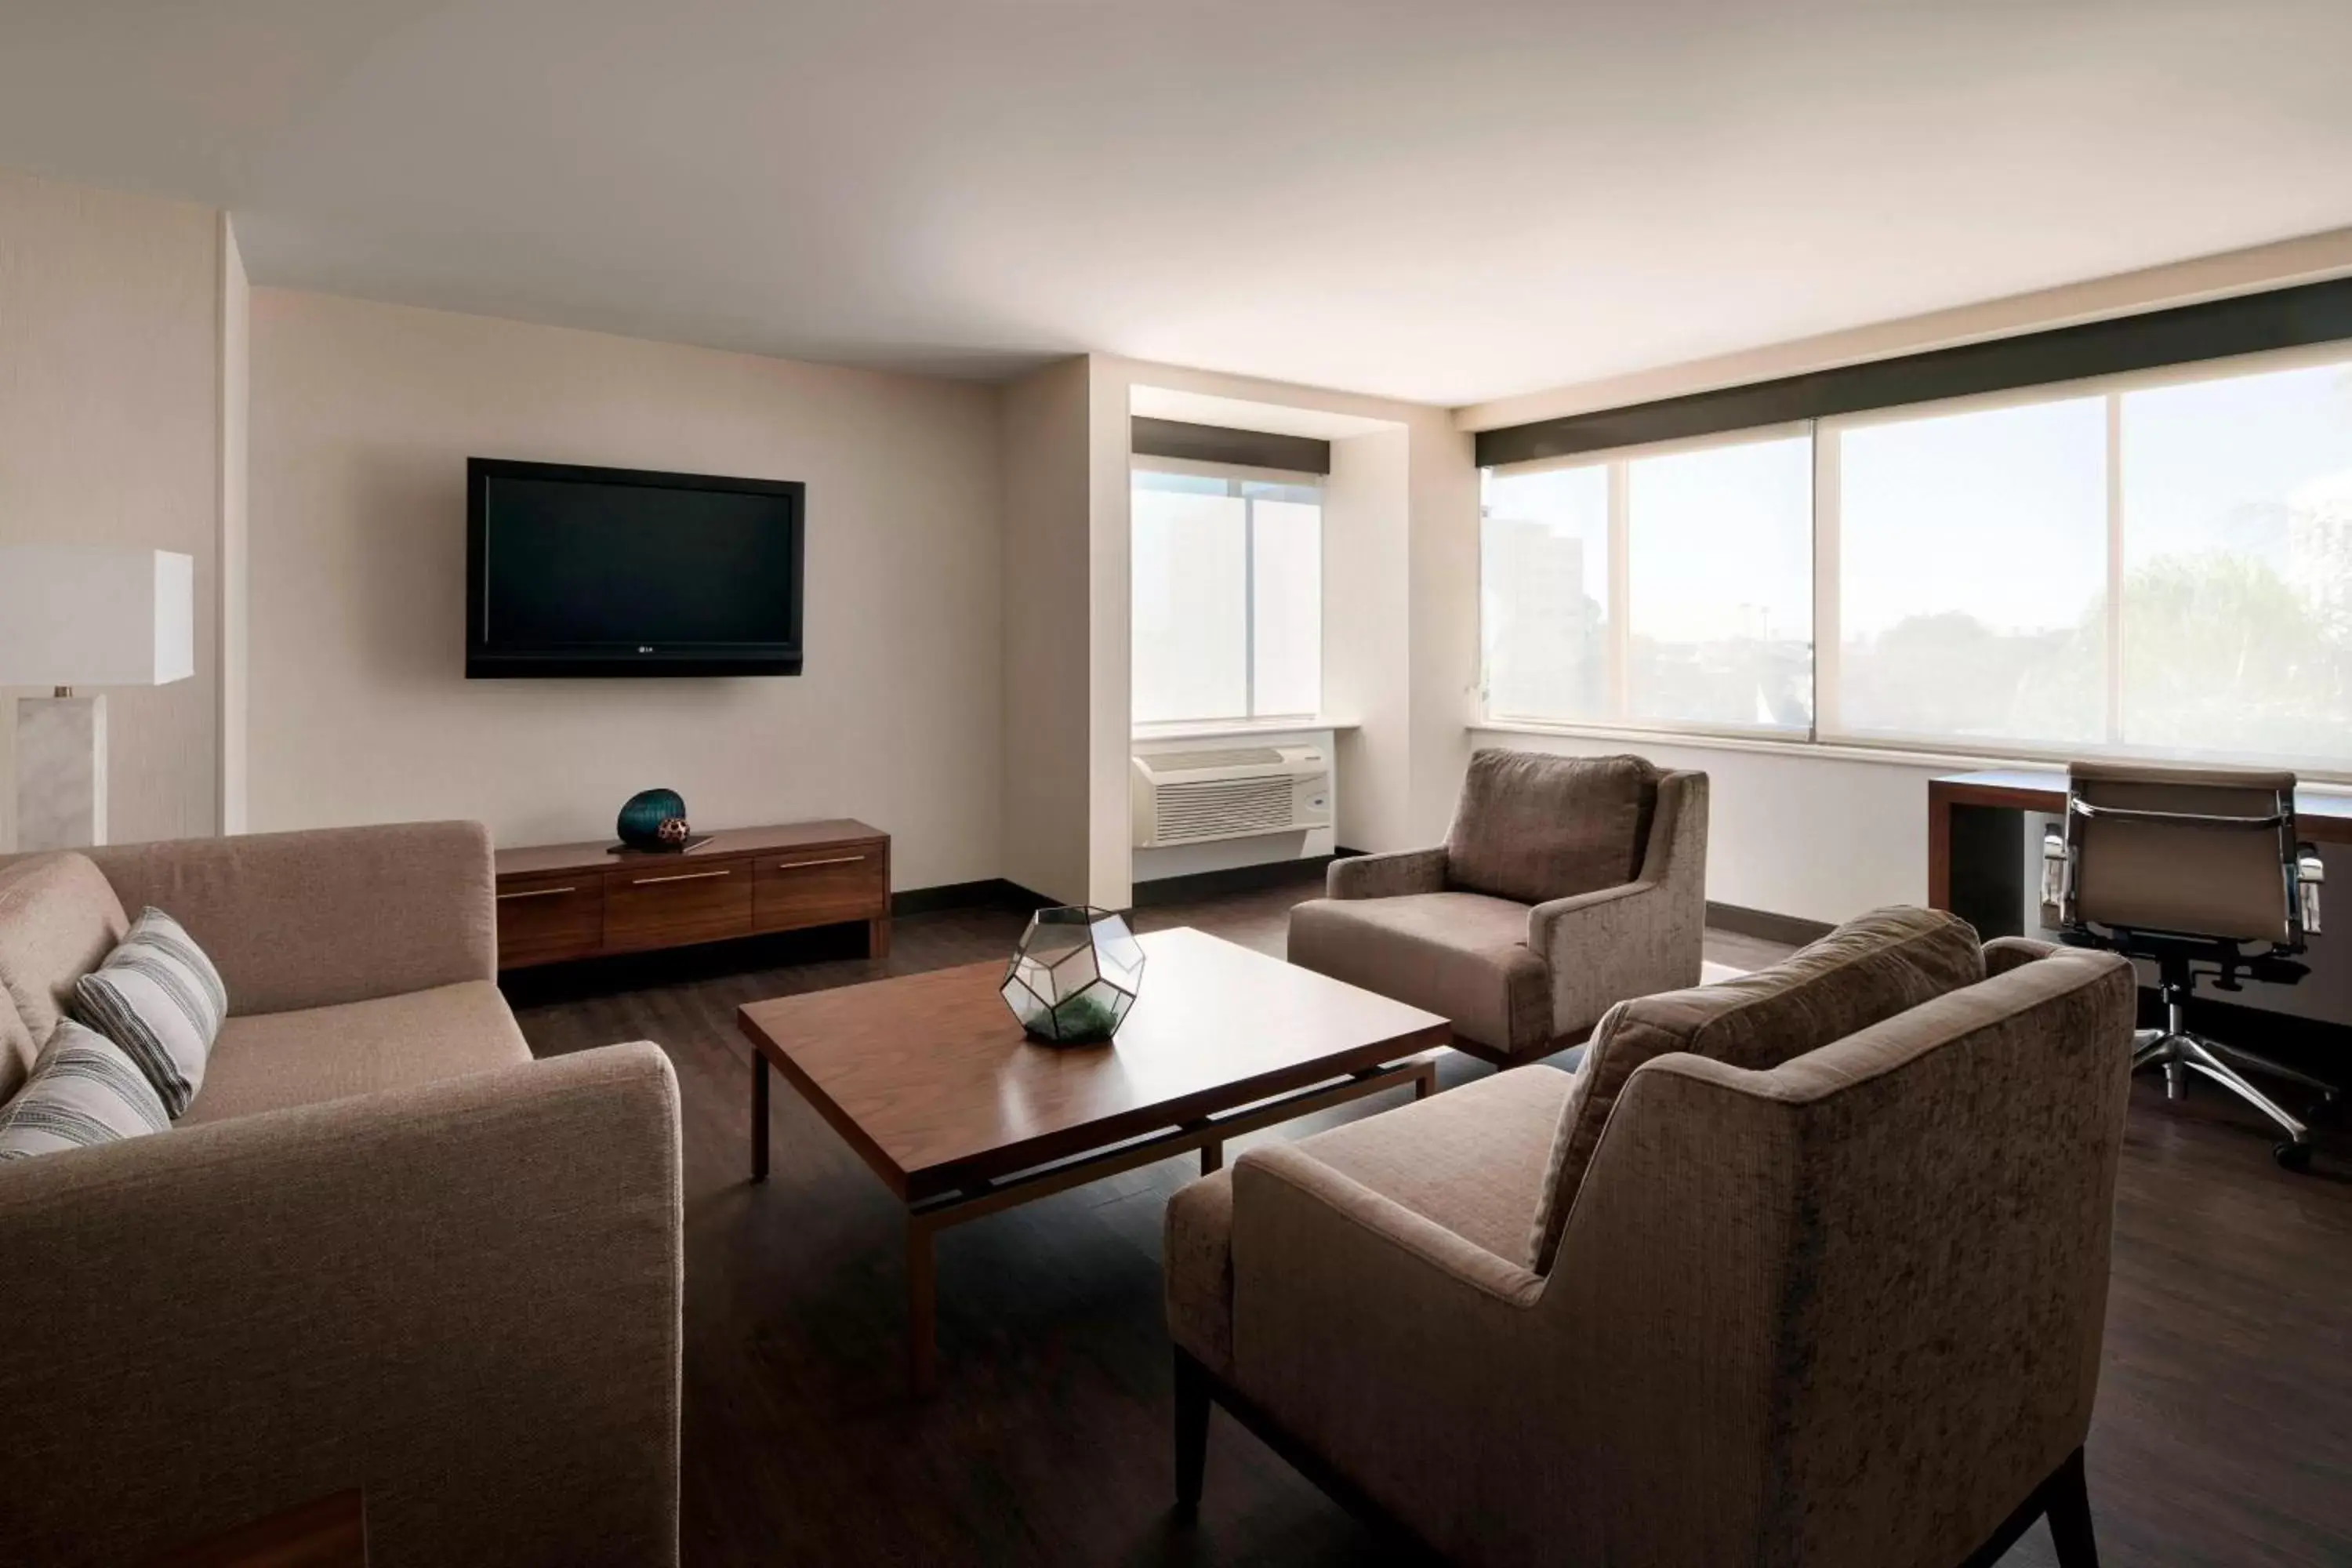
<svg viewBox="0 0 2352 1568">
<path fill-rule="evenodd" d="M 1482 552 L 1496 719 L 2352 776 L 2352 346 L 1491 468 Z"/>
</svg>

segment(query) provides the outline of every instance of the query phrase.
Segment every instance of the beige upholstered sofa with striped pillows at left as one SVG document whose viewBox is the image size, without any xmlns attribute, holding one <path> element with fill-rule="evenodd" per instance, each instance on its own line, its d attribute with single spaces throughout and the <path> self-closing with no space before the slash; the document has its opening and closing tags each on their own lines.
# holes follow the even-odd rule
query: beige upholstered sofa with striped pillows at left
<svg viewBox="0 0 2352 1568">
<path fill-rule="evenodd" d="M 230 1016 L 172 1131 L 0 1164 L 0 1561 L 346 1488 L 369 1563 L 675 1563 L 677 1084 L 532 1060 L 473 823 L 0 860 L 0 1095 L 155 905 Z"/>
</svg>

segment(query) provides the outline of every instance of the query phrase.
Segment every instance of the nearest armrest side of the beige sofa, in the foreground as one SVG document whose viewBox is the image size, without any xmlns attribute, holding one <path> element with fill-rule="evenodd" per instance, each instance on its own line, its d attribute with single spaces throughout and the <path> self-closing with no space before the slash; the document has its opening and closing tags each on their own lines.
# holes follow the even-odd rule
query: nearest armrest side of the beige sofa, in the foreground
<svg viewBox="0 0 2352 1568">
<path fill-rule="evenodd" d="M 0 1168 L 0 1561 L 362 1486 L 388 1568 L 675 1563 L 680 1288 L 644 1041 Z"/>
</svg>

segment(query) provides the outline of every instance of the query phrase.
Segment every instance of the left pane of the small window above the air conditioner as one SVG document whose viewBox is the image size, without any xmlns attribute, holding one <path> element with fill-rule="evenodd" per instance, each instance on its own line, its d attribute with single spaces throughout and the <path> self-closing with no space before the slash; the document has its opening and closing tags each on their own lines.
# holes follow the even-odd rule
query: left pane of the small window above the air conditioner
<svg viewBox="0 0 2352 1568">
<path fill-rule="evenodd" d="M 1225 480 L 1136 475 L 1138 724 L 1249 715 L 1249 531 L 1244 501 L 1230 489 Z"/>
</svg>

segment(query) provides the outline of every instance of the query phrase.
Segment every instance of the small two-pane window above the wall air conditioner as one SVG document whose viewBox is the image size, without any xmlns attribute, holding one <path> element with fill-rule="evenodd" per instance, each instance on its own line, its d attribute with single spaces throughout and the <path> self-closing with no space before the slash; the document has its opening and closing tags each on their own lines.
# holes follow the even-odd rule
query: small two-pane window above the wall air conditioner
<svg viewBox="0 0 2352 1568">
<path fill-rule="evenodd" d="M 1134 473 L 1134 722 L 1322 708 L 1322 489 Z"/>
</svg>

